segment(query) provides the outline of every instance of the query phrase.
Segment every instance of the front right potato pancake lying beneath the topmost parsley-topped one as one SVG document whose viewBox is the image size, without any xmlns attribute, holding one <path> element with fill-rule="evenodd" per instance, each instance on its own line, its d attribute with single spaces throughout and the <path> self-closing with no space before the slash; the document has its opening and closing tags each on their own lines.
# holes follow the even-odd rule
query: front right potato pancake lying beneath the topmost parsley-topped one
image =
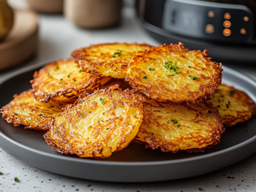
<svg viewBox="0 0 256 192">
<path fill-rule="evenodd" d="M 144 120 L 136 139 L 152 149 L 173 153 L 180 150 L 203 152 L 218 144 L 225 130 L 218 110 L 203 103 L 188 105 L 157 100 L 142 103 Z"/>
</svg>

